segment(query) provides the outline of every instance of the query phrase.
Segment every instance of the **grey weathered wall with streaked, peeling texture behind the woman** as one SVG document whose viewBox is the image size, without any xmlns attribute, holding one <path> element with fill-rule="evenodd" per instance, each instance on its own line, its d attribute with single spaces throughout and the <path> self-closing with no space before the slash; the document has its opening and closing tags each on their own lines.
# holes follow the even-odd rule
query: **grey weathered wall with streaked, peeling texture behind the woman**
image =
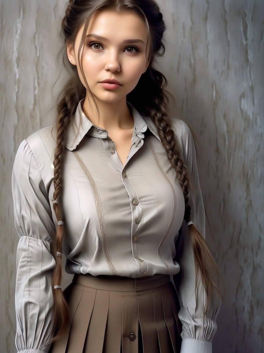
<svg viewBox="0 0 264 353">
<path fill-rule="evenodd" d="M 159 0 L 168 24 L 166 58 L 180 115 L 197 137 L 200 181 L 225 282 L 214 352 L 264 345 L 264 2 Z M 15 250 L 11 171 L 22 139 L 50 124 L 43 111 L 54 82 L 63 0 L 0 1 L 0 345 L 14 348 Z"/>
</svg>

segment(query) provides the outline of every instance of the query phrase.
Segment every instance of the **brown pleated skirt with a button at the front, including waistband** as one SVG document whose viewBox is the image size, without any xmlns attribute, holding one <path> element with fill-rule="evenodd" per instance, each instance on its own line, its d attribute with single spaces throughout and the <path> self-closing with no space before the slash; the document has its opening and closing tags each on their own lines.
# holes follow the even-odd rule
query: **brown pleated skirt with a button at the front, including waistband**
<svg viewBox="0 0 264 353">
<path fill-rule="evenodd" d="M 178 301 L 168 275 L 75 275 L 70 321 L 50 353 L 180 353 Z"/>
</svg>

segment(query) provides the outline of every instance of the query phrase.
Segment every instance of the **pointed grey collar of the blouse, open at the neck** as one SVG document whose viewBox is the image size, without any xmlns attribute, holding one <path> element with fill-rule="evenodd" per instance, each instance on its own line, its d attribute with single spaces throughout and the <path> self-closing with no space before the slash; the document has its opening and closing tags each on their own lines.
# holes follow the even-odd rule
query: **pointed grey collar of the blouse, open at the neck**
<svg viewBox="0 0 264 353">
<path fill-rule="evenodd" d="M 76 149 L 77 145 L 81 142 L 86 134 L 100 138 L 107 138 L 108 136 L 106 130 L 95 126 L 87 118 L 87 116 L 83 113 L 82 104 L 83 100 L 79 102 L 74 119 L 70 121 L 66 132 L 65 146 L 70 151 Z M 130 108 L 134 118 L 134 131 L 136 132 L 137 136 L 139 138 L 144 138 L 144 132 L 146 132 L 148 128 L 150 132 L 156 136 L 159 141 L 161 141 L 152 120 L 145 116 L 143 118 L 143 116 L 140 115 L 139 112 L 129 102 L 127 102 L 127 105 Z"/>
</svg>

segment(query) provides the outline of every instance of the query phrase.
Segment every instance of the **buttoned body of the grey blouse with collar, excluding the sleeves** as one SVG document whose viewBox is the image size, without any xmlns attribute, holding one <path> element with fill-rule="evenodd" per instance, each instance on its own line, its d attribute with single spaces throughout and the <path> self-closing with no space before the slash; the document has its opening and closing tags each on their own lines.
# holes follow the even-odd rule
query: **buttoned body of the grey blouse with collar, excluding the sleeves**
<svg viewBox="0 0 264 353">
<path fill-rule="evenodd" d="M 107 132 L 89 122 L 80 104 L 75 127 L 69 127 L 59 199 L 69 273 L 141 277 L 179 271 L 174 257 L 184 215 L 182 190 L 155 127 L 136 110 L 133 116 L 124 166 Z M 78 134 L 76 126 L 83 129 Z M 27 142 L 52 206 L 56 144 L 51 129 Z"/>
</svg>

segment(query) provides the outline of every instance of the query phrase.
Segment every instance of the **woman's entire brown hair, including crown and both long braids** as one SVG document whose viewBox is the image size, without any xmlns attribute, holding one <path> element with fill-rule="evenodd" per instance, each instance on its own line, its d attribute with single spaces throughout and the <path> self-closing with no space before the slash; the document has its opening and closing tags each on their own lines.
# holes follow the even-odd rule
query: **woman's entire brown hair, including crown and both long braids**
<svg viewBox="0 0 264 353">
<path fill-rule="evenodd" d="M 184 220 L 190 221 L 190 206 L 188 204 L 188 188 L 190 180 L 188 169 L 181 156 L 178 143 L 172 130 L 170 120 L 167 115 L 168 94 L 165 91 L 166 78 L 153 66 L 155 56 L 163 55 L 165 47 L 162 42 L 165 24 L 159 7 L 154 0 L 70 0 L 62 20 L 62 34 L 64 37 L 64 57 L 63 64 L 71 72 L 71 77 L 63 87 L 59 103 L 57 104 L 57 146 L 54 156 L 54 199 L 58 199 L 62 189 L 62 168 L 64 155 L 64 133 L 67 129 L 70 119 L 73 118 L 79 101 L 86 96 L 92 98 L 88 84 L 84 77 L 81 63 L 81 48 L 84 44 L 89 21 L 96 11 L 114 10 L 114 11 L 133 11 L 140 16 L 146 23 L 149 32 L 149 66 L 139 79 L 137 86 L 127 95 L 129 101 L 141 114 L 150 116 L 155 124 L 159 137 L 166 150 L 171 166 L 175 169 L 177 177 L 185 197 Z M 84 24 L 83 35 L 78 50 L 78 61 L 86 88 L 82 85 L 78 77 L 77 68 L 71 65 L 67 58 L 66 46 L 74 43 L 80 27 Z M 143 94 L 144 92 L 144 94 Z M 62 221 L 59 204 L 53 204 L 57 221 Z M 210 297 L 215 288 L 218 295 L 221 295 L 215 278 L 218 278 L 218 269 L 210 256 L 207 245 L 202 235 L 195 225 L 189 226 L 189 233 L 194 249 L 196 283 L 198 274 L 201 275 L 203 285 L 207 293 L 207 303 L 204 309 L 204 315 L 208 312 Z M 55 234 L 54 253 L 62 252 L 63 225 L 59 225 Z M 62 278 L 62 259 L 55 256 L 56 268 L 52 276 L 52 286 L 60 285 Z M 68 306 L 63 292 L 55 289 L 53 305 L 53 334 L 52 341 L 62 338 L 68 323 Z"/>
</svg>

